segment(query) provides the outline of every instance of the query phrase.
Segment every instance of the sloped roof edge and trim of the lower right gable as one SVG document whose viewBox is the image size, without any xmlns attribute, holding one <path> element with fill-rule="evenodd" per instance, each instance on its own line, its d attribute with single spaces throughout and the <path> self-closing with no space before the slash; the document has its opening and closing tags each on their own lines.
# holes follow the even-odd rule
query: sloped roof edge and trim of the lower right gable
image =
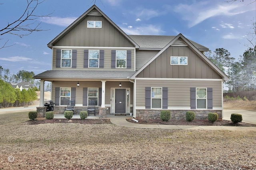
<svg viewBox="0 0 256 170">
<path fill-rule="evenodd" d="M 162 50 L 160 50 L 152 59 L 150 59 L 144 66 L 142 66 L 135 74 L 131 76 L 131 79 L 135 79 L 136 76 L 144 70 L 152 61 L 154 61 L 160 54 L 162 54 L 170 45 L 172 45 L 178 38 L 182 39 L 190 49 L 192 49 L 199 57 L 201 57 L 212 69 L 214 69 L 220 76 L 222 76 L 222 79 L 224 81 L 227 81 L 229 78 L 222 72 L 215 64 L 213 64 L 210 59 L 208 59 L 203 53 L 199 51 L 186 37 L 184 37 L 181 33 L 178 34 L 172 41 L 170 41 Z"/>
</svg>

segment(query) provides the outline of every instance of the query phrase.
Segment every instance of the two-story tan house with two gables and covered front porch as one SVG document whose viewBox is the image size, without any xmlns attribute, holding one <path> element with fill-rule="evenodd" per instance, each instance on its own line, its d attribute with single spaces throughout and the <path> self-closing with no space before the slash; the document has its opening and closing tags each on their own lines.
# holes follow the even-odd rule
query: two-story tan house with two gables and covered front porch
<svg viewBox="0 0 256 170">
<path fill-rule="evenodd" d="M 96 101 L 100 115 L 159 117 L 168 109 L 177 119 L 188 110 L 198 119 L 209 112 L 222 118 L 222 85 L 228 77 L 204 56 L 208 48 L 182 34 L 127 35 L 94 5 L 48 47 L 52 70 L 34 78 L 40 79 L 40 87 L 52 82 L 56 113 L 63 114 L 67 101 L 75 100 L 80 110 Z"/>
</svg>

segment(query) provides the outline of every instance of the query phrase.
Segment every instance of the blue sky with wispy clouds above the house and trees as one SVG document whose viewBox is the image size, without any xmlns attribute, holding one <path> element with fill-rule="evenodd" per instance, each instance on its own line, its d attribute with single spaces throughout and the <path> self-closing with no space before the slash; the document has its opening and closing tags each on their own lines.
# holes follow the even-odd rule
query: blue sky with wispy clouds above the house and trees
<svg viewBox="0 0 256 170">
<path fill-rule="evenodd" d="M 178 35 L 182 33 L 210 50 L 227 49 L 238 59 L 247 49 L 246 36 L 256 20 L 255 0 L 96 0 L 96 5 L 128 35 Z M 0 36 L 0 66 L 11 74 L 19 70 L 39 74 L 51 70 L 52 51 L 47 44 L 94 4 L 95 0 L 45 0 L 36 10 L 40 27 L 22 38 Z M 251 3 L 253 2 L 253 3 Z M 1 0 L 0 29 L 17 20 L 26 0 Z M 250 4 L 251 3 L 251 4 Z M 14 45 L 15 44 L 15 45 Z"/>
</svg>

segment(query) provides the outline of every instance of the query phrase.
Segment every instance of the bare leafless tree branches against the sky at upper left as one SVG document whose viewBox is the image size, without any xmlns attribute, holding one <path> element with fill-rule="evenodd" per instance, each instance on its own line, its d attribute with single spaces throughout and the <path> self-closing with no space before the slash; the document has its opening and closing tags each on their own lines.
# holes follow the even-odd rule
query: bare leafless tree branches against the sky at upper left
<svg viewBox="0 0 256 170">
<path fill-rule="evenodd" d="M 40 16 L 35 14 L 36 8 L 38 8 L 38 5 L 42 4 L 45 0 L 39 1 L 39 0 L 26 0 L 27 6 L 24 9 L 24 12 L 21 14 L 20 17 L 17 18 L 17 20 L 8 22 L 6 26 L 0 27 L 0 40 L 1 36 L 4 34 L 12 34 L 17 35 L 18 37 L 22 38 L 23 36 L 30 35 L 32 32 L 36 31 L 46 31 L 44 29 L 41 29 L 40 24 L 41 22 L 38 22 L 39 17 L 48 17 L 50 14 Z M 0 4 L 3 5 L 3 4 Z M 52 13 L 51 13 L 52 14 Z M 3 23 L 1 25 L 4 25 Z M 4 45 L 0 46 L 0 49 L 4 47 L 10 47 L 12 45 L 7 45 L 9 40 L 4 42 Z M 13 44 L 14 45 L 14 44 Z"/>
</svg>

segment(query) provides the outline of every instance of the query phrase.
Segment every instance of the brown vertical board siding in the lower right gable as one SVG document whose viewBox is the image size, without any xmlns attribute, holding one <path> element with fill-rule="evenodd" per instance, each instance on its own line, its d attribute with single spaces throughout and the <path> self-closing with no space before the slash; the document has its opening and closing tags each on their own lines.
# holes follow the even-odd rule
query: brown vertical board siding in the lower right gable
<svg viewBox="0 0 256 170">
<path fill-rule="evenodd" d="M 188 65 L 171 65 L 170 57 L 188 57 Z M 189 47 L 170 46 L 142 70 L 138 78 L 210 78 L 222 77 Z"/>
</svg>

